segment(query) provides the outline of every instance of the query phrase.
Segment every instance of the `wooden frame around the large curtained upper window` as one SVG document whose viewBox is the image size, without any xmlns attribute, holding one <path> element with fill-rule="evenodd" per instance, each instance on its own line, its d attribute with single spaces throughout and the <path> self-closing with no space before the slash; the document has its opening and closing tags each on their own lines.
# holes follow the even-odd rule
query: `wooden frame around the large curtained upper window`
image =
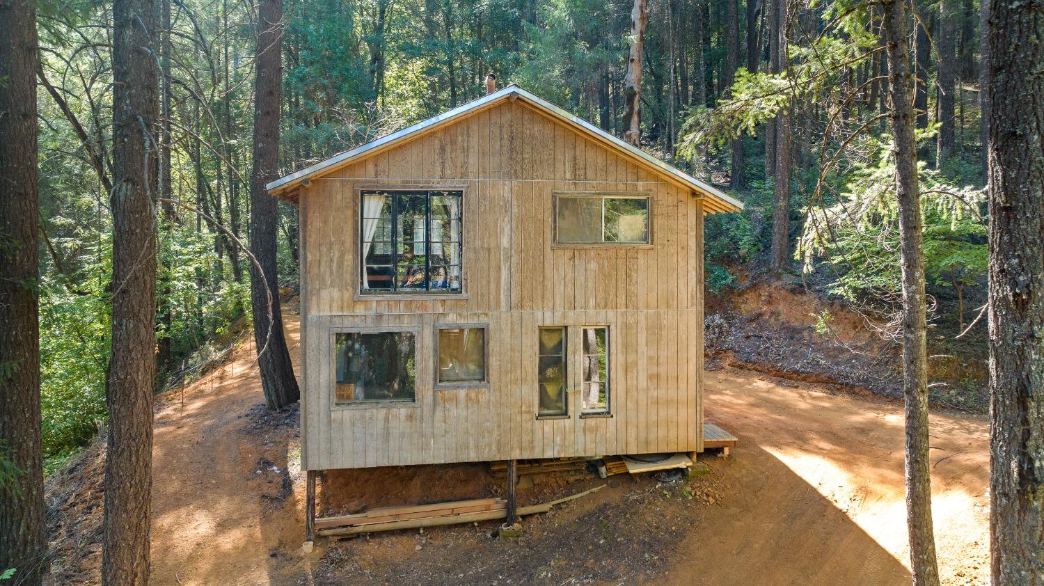
<svg viewBox="0 0 1044 586">
<path fill-rule="evenodd" d="M 467 300 L 468 299 L 468 277 L 467 277 L 467 251 L 465 250 L 465 226 L 467 221 L 467 212 L 465 210 L 465 205 L 468 200 L 468 186 L 462 184 L 358 184 L 355 186 L 355 196 L 352 198 L 352 219 L 350 226 L 352 227 L 352 239 L 355 242 L 356 250 L 353 251 L 351 255 L 351 269 L 354 277 L 351 278 L 352 283 L 352 300 L 353 301 L 379 301 L 379 300 L 396 300 L 396 301 L 410 301 L 410 300 Z M 449 291 L 449 290 L 418 290 L 418 289 L 365 289 L 362 286 L 363 272 L 365 271 L 365 259 L 362 258 L 362 238 L 363 238 L 363 228 L 362 228 L 362 197 L 367 191 L 455 191 L 460 193 L 460 290 Z M 429 195 L 430 196 L 430 195 Z M 428 212 L 428 222 L 430 222 L 430 209 Z M 395 232 L 395 226 L 392 227 L 393 233 Z M 425 230 L 429 231 L 430 226 L 425 225 Z M 430 233 L 430 232 L 429 232 Z M 394 245 L 394 244 L 393 244 Z M 428 268 L 428 260 L 425 260 L 425 268 Z M 395 278 L 395 265 L 393 264 L 393 279 Z"/>
</svg>

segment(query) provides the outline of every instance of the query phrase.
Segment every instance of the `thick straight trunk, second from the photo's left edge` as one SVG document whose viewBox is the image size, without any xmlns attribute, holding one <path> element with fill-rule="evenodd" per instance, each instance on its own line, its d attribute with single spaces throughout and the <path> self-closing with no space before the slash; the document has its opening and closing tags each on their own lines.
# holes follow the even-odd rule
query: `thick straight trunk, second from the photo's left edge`
<svg viewBox="0 0 1044 586">
<path fill-rule="evenodd" d="M 101 580 L 149 573 L 159 117 L 157 3 L 113 2 L 113 334 L 105 396 L 109 451 Z"/>
</svg>

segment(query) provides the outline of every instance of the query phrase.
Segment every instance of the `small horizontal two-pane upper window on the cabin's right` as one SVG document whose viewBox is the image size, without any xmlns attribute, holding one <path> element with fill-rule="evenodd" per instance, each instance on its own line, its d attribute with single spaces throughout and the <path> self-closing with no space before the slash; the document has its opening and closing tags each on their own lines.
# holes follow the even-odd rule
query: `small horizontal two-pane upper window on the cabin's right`
<svg viewBox="0 0 1044 586">
<path fill-rule="evenodd" d="M 612 194 L 560 194 L 560 244 L 648 243 L 649 198 Z"/>
</svg>

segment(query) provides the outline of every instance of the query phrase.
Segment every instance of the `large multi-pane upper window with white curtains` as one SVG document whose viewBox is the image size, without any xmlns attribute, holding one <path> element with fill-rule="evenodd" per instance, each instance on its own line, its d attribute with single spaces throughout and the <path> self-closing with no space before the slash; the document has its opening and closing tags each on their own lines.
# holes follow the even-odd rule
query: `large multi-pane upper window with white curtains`
<svg viewBox="0 0 1044 586">
<path fill-rule="evenodd" d="M 460 191 L 363 191 L 362 292 L 460 292 Z"/>
</svg>

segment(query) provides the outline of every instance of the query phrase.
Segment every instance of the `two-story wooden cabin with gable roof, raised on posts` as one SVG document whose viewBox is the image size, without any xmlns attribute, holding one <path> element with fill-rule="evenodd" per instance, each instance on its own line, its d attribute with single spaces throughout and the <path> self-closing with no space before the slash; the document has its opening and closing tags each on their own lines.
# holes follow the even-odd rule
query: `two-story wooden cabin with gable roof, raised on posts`
<svg viewBox="0 0 1044 586">
<path fill-rule="evenodd" d="M 303 469 L 702 450 L 704 215 L 740 202 L 517 86 L 267 188 Z"/>
</svg>

